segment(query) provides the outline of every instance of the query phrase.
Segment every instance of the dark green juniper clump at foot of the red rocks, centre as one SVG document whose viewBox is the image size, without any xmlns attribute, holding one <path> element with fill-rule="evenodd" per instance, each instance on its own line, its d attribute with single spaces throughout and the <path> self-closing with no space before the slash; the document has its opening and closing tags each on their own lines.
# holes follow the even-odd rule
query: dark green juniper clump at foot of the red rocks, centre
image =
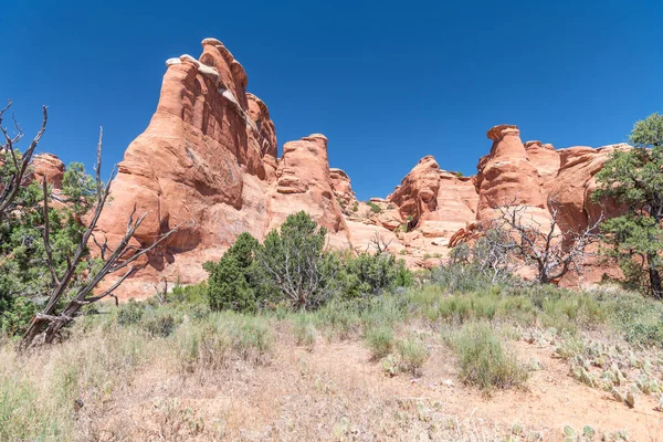
<svg viewBox="0 0 663 442">
<path fill-rule="evenodd" d="M 290 215 L 262 245 L 242 233 L 218 263 L 204 264 L 210 273 L 210 308 L 244 313 L 261 307 L 315 309 L 340 294 L 364 297 L 413 284 L 402 260 L 389 253 L 328 252 L 326 234 L 305 212 Z M 181 297 L 183 291 L 173 290 L 170 298 Z"/>
</svg>

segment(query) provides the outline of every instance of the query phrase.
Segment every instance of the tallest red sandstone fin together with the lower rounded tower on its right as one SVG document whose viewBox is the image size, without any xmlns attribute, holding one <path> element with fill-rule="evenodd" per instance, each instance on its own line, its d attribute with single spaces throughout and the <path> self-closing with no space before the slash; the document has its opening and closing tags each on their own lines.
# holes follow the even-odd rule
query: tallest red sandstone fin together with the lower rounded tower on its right
<svg viewBox="0 0 663 442">
<path fill-rule="evenodd" d="M 326 138 L 288 143 L 277 160 L 266 105 L 246 93 L 244 69 L 215 39 L 202 41 L 199 60 L 182 55 L 166 64 L 157 110 L 119 164 L 98 230 L 113 243 L 136 204 L 138 213 L 148 213 L 136 234 L 139 244 L 178 231 L 155 249 L 124 292 L 154 291 L 161 277 L 199 282 L 207 277 L 202 263 L 219 259 L 240 233 L 262 240 L 298 210 L 347 246 Z"/>
</svg>

